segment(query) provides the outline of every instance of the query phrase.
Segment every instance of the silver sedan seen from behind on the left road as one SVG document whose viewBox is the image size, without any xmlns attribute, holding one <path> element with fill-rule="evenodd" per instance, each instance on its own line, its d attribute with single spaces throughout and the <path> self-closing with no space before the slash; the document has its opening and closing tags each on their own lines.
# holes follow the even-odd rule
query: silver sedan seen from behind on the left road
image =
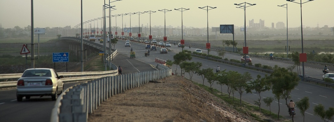
<svg viewBox="0 0 334 122">
<path fill-rule="evenodd" d="M 51 96 L 52 100 L 64 90 L 64 83 L 52 68 L 30 68 L 26 69 L 16 85 L 17 101 L 22 97 L 30 99 L 30 96 Z"/>
</svg>

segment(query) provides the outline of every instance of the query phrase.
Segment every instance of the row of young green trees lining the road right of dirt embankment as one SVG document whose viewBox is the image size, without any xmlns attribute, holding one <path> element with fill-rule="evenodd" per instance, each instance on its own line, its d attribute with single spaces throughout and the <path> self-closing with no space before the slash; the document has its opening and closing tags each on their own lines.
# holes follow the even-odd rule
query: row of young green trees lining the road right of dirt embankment
<svg viewBox="0 0 334 122">
<path fill-rule="evenodd" d="M 278 101 L 279 105 L 278 119 L 280 114 L 280 100 L 284 99 L 285 105 L 288 106 L 288 100 L 291 98 L 290 96 L 291 91 L 294 90 L 294 88 L 298 85 L 300 81 L 298 74 L 296 72 L 293 72 L 294 67 L 284 68 L 275 65 L 274 72 L 272 74 L 265 75 L 264 77 L 262 77 L 261 75 L 257 75 L 257 78 L 255 80 L 252 80 L 253 78 L 249 72 L 241 74 L 237 71 L 222 70 L 220 72 L 214 73 L 212 68 L 201 69 L 202 66 L 201 62 L 188 62 L 192 59 L 191 54 L 189 53 L 180 52 L 174 55 L 173 59 L 174 61 L 168 60 L 166 64 L 168 66 L 172 66 L 173 64 L 175 64 L 176 65 L 175 73 L 177 71 L 177 66 L 179 65 L 179 67 L 181 68 L 181 76 L 184 76 L 184 73 L 187 72 L 189 74 L 190 80 L 192 80 L 193 74 L 197 74 L 202 77 L 203 80 L 202 85 L 204 85 L 205 79 L 207 80 L 207 82 L 210 84 L 211 91 L 213 91 L 212 85 L 214 84 L 215 81 L 216 84 L 221 85 L 221 91 L 222 91 L 222 85 L 226 85 L 229 98 L 231 96 L 231 93 L 233 94 L 233 98 L 235 91 L 239 93 L 240 105 L 242 104 L 241 98 L 244 92 L 252 93 L 255 91 L 256 93 L 259 94 L 259 99 L 255 101 L 255 104 L 260 107 L 260 112 L 262 104 L 261 93 L 264 91 L 271 90 L 274 96 L 267 97 L 263 101 L 269 107 L 274 99 Z M 297 106 L 300 107 L 299 109 L 301 110 L 301 112 L 303 109 L 304 110 L 308 109 L 307 106 L 309 106 L 309 104 L 307 104 L 307 102 L 305 101 L 306 100 L 302 99 L 299 102 L 297 102 Z M 333 108 L 330 108 L 330 111 L 332 109 Z M 304 116 L 303 113 L 302 115 Z M 322 117 L 323 115 L 322 113 L 326 112 L 318 112 L 318 113 L 319 114 L 317 115 Z M 327 120 L 331 120 L 334 115 L 334 112 L 333 114 L 330 113 L 331 112 L 327 112 L 327 115 L 324 116 L 324 118 L 327 118 Z"/>
</svg>

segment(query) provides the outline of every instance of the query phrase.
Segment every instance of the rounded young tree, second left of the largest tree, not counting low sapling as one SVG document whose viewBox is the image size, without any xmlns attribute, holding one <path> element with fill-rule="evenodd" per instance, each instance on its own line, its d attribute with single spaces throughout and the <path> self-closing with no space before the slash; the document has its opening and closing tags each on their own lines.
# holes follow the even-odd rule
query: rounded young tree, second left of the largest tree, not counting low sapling
<svg viewBox="0 0 334 122">
<path fill-rule="evenodd" d="M 240 73 L 239 73 L 240 74 Z M 236 90 L 240 95 L 240 105 L 241 105 L 241 96 L 243 91 L 245 91 L 246 88 L 249 87 L 247 82 L 251 81 L 252 76 L 249 72 L 245 72 L 242 75 L 240 74 L 240 77 L 235 77 L 235 83 L 232 85 L 233 89 Z"/>
</svg>

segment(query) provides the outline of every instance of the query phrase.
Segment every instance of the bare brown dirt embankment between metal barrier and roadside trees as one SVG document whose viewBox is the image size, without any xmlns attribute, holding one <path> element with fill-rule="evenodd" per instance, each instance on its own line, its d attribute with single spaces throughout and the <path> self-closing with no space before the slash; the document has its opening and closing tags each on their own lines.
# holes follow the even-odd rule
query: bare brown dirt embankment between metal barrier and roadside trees
<svg viewBox="0 0 334 122">
<path fill-rule="evenodd" d="M 117 94 L 89 122 L 255 122 L 189 80 L 171 76 Z"/>
</svg>

